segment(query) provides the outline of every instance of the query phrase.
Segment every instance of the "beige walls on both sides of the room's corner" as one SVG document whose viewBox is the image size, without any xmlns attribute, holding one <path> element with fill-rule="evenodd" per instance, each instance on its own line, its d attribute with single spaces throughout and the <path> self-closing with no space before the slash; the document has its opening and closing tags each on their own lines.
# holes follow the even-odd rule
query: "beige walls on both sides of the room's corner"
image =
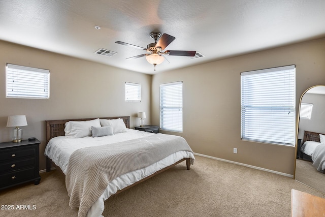
<svg viewBox="0 0 325 217">
<path fill-rule="evenodd" d="M 7 116 L 25 114 L 24 139 L 35 136 L 42 142 L 40 169 L 45 168 L 44 120 L 130 115 L 134 127 L 137 112 L 146 111 L 146 123 L 159 125 L 159 84 L 183 81 L 183 133 L 176 135 L 183 136 L 194 152 L 294 174 L 295 148 L 240 139 L 240 72 L 295 64 L 297 106 L 308 87 L 325 84 L 325 39 L 154 76 L 2 41 L 0 49 L 0 142 L 11 139 Z M 7 99 L 6 63 L 49 69 L 50 99 Z M 124 102 L 125 81 L 142 84 L 141 103 Z"/>
</svg>

